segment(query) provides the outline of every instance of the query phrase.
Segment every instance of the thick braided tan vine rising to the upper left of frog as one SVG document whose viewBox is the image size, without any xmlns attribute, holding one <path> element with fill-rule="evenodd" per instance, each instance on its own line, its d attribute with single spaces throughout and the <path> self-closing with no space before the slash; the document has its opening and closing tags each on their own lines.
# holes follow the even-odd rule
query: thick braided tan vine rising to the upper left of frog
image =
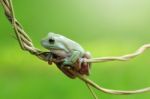
<svg viewBox="0 0 150 99">
<path fill-rule="evenodd" d="M 0 0 L 0 3 L 2 4 L 4 8 L 7 19 L 13 26 L 13 29 L 15 31 L 15 34 L 16 34 L 16 37 L 17 37 L 17 40 L 19 42 L 21 49 L 30 52 L 31 54 L 37 56 L 38 58 L 44 61 L 47 61 L 47 58 L 46 58 L 47 52 L 42 52 L 41 50 L 34 47 L 32 40 L 24 31 L 19 21 L 17 21 L 15 17 L 14 9 L 13 9 L 12 1 Z"/>
</svg>

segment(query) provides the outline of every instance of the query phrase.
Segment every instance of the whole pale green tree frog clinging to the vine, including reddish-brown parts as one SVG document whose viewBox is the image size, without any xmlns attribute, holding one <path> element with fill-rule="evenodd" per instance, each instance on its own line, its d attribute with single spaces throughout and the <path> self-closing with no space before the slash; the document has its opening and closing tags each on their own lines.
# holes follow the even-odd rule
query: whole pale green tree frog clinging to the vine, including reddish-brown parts
<svg viewBox="0 0 150 99">
<path fill-rule="evenodd" d="M 63 35 L 49 32 L 48 35 L 41 40 L 41 45 L 53 54 L 50 55 L 48 59 L 49 63 L 52 63 L 52 56 L 57 57 L 55 59 L 59 62 L 55 62 L 56 65 L 67 74 L 67 76 L 72 78 L 76 76 L 75 73 L 68 74 L 69 69 L 82 75 L 89 75 L 90 64 L 86 64 L 83 61 L 85 58 L 91 58 L 91 54 L 85 51 L 79 43 Z"/>
</svg>

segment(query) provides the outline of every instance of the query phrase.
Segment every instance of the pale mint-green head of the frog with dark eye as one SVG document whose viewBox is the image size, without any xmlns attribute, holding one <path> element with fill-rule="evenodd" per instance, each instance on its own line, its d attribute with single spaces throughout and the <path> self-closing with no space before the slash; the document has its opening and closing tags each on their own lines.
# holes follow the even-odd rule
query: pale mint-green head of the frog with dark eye
<svg viewBox="0 0 150 99">
<path fill-rule="evenodd" d="M 64 36 L 50 32 L 41 40 L 41 45 L 48 50 L 65 49 Z"/>
</svg>

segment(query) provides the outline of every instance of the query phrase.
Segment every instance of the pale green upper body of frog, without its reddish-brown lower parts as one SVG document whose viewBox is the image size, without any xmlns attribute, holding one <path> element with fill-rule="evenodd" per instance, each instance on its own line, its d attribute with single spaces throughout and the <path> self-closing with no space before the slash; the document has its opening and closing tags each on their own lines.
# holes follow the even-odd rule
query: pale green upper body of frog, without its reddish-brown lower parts
<svg viewBox="0 0 150 99">
<path fill-rule="evenodd" d="M 63 66 L 73 66 L 85 54 L 84 49 L 78 43 L 51 32 L 41 40 L 41 45 L 50 50 L 51 53 L 64 59 Z"/>
</svg>

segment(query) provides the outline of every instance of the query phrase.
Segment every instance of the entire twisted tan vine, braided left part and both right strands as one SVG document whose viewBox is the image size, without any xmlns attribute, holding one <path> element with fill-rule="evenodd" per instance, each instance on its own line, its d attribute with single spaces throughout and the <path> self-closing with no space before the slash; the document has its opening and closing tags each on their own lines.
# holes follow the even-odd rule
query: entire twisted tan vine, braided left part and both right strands
<svg viewBox="0 0 150 99">
<path fill-rule="evenodd" d="M 10 23 L 13 26 L 13 29 L 16 33 L 17 40 L 18 40 L 22 50 L 28 51 L 32 55 L 35 55 L 38 58 L 40 58 L 44 61 L 47 61 L 47 53 L 48 52 L 44 52 L 44 51 L 41 51 L 41 50 L 35 48 L 30 37 L 24 31 L 24 29 L 21 26 L 21 24 L 19 23 L 19 21 L 17 21 L 14 10 L 13 10 L 12 0 L 0 0 L 0 3 L 4 8 L 7 19 L 10 21 Z M 130 60 L 130 59 L 140 55 L 140 54 L 143 54 L 144 51 L 149 48 L 150 48 L 150 44 L 145 44 L 145 45 L 141 46 L 136 52 L 131 53 L 131 54 L 117 56 L 117 57 L 111 56 L 111 57 L 83 59 L 83 62 L 85 62 L 85 63 L 100 63 L 100 62 L 109 62 L 109 61 L 127 61 L 127 60 Z M 138 93 L 150 92 L 150 87 L 138 89 L 138 90 L 130 90 L 130 91 L 106 89 L 106 88 L 101 87 L 100 85 L 97 85 L 95 82 L 91 81 L 90 79 L 88 79 L 85 76 L 77 74 L 77 77 L 87 84 L 88 88 L 90 89 L 90 91 L 95 99 L 98 99 L 98 98 L 97 98 L 96 94 L 93 92 L 93 90 L 91 89 L 91 86 L 96 88 L 97 90 L 104 92 L 104 93 L 116 94 L 116 95 L 128 95 L 128 94 L 138 94 Z"/>
</svg>

